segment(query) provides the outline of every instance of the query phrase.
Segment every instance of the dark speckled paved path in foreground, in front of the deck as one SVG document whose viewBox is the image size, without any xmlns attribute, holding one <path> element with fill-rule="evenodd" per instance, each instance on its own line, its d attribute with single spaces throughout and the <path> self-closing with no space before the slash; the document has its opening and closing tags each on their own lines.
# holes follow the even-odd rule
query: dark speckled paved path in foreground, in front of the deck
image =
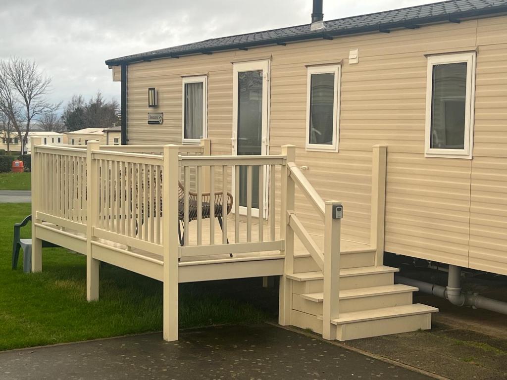
<svg viewBox="0 0 507 380">
<path fill-rule="evenodd" d="M 148 334 L 0 353 L 2 380 L 429 377 L 270 325 Z"/>
</svg>

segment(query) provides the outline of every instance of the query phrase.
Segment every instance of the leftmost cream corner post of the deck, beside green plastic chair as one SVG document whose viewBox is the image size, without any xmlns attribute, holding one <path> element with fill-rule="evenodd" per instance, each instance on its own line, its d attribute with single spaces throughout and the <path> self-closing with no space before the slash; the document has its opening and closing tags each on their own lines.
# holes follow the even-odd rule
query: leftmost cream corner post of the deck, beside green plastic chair
<svg viewBox="0 0 507 380">
<path fill-rule="evenodd" d="M 32 137 L 30 139 L 31 145 L 31 215 L 32 215 L 32 251 L 31 251 L 31 271 L 32 273 L 42 271 L 42 240 L 37 239 L 37 227 L 35 223 L 40 222 L 37 218 L 37 211 L 41 205 L 41 178 L 43 168 L 39 165 L 39 153 L 35 145 L 41 145 L 41 137 Z"/>
</svg>

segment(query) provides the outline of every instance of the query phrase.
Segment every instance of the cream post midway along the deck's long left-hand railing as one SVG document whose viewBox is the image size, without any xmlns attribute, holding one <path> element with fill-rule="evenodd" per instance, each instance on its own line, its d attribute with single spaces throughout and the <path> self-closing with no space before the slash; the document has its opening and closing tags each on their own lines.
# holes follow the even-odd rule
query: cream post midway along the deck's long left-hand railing
<svg viewBox="0 0 507 380">
<path fill-rule="evenodd" d="M 98 180 L 100 173 L 98 160 L 93 159 L 93 151 L 100 149 L 100 142 L 88 141 L 86 147 L 86 299 L 98 299 L 100 261 L 93 258 L 93 227 L 98 219 Z M 106 184 L 108 186 L 108 184 Z"/>
</svg>

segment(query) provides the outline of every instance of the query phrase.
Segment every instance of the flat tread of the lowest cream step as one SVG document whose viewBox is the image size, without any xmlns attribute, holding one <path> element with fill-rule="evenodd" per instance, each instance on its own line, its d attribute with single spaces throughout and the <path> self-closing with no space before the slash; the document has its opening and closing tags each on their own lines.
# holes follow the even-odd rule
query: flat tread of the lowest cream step
<svg viewBox="0 0 507 380">
<path fill-rule="evenodd" d="M 394 317 L 406 317 L 410 315 L 437 313 L 439 310 L 431 306 L 422 305 L 422 303 L 413 303 L 412 305 L 393 306 L 390 308 L 364 310 L 360 312 L 350 312 L 340 314 L 340 318 L 331 320 L 335 325 L 346 323 L 374 321 L 377 319 L 386 319 Z"/>
</svg>

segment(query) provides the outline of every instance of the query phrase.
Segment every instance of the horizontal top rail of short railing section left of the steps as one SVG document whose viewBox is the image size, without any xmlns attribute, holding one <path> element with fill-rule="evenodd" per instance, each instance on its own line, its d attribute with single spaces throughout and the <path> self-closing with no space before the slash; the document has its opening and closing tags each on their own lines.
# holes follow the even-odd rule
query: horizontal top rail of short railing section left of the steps
<svg viewBox="0 0 507 380">
<path fill-rule="evenodd" d="M 284 165 L 285 156 L 179 156 L 181 166 Z"/>
</svg>

